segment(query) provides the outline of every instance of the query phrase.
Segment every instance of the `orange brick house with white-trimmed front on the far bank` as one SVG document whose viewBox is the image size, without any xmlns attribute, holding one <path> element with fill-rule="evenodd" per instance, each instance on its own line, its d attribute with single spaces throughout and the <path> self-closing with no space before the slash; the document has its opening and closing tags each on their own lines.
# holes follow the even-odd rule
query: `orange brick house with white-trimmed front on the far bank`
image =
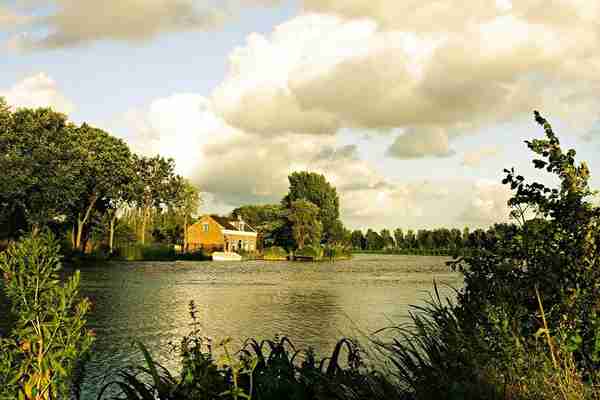
<svg viewBox="0 0 600 400">
<path fill-rule="evenodd" d="M 188 250 L 256 251 L 256 231 L 241 218 L 205 215 L 188 228 Z"/>
</svg>

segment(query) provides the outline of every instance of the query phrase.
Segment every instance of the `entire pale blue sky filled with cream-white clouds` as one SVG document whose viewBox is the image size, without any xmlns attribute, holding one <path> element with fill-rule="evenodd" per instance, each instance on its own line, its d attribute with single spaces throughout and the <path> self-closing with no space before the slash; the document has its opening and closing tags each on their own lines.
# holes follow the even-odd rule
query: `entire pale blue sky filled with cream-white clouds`
<svg viewBox="0 0 600 400">
<path fill-rule="evenodd" d="M 600 187 L 600 2 L 0 0 L 0 96 L 177 161 L 205 212 L 294 170 L 351 228 L 506 219 L 539 109 Z"/>
</svg>

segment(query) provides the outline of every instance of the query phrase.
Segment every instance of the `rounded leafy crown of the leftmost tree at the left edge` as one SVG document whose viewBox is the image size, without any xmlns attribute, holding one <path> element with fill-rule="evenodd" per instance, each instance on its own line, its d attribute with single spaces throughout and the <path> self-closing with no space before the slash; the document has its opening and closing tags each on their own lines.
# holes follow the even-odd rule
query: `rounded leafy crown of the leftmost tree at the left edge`
<svg viewBox="0 0 600 400">
<path fill-rule="evenodd" d="M 37 232 L 77 203 L 84 156 L 76 127 L 48 108 L 0 109 L 0 201 Z"/>
</svg>

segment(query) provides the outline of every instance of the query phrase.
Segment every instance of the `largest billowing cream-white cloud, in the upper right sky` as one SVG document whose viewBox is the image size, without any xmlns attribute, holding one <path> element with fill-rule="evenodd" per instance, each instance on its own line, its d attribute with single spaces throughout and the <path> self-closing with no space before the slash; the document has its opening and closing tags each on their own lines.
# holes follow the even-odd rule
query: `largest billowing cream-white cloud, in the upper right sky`
<svg viewBox="0 0 600 400">
<path fill-rule="evenodd" d="M 417 157 L 451 154 L 446 138 L 533 109 L 581 129 L 593 122 L 582 120 L 598 104 L 590 83 L 600 83 L 600 32 L 590 36 L 589 25 L 538 23 L 525 9 L 513 12 L 504 3 L 500 9 L 510 12 L 499 11 L 490 1 L 475 8 L 475 19 L 455 10 L 468 17 L 466 25 L 438 26 L 433 19 L 443 29 L 431 33 L 376 18 L 377 10 L 405 12 L 403 2 L 305 3 L 310 11 L 350 7 L 356 13 L 337 14 L 356 18 L 305 14 L 269 36 L 250 35 L 213 94 L 229 124 L 262 135 L 403 128 L 411 134 L 388 153 Z M 425 3 L 423 10 L 436 9 Z M 415 148 L 403 143 L 408 139 Z"/>
</svg>

